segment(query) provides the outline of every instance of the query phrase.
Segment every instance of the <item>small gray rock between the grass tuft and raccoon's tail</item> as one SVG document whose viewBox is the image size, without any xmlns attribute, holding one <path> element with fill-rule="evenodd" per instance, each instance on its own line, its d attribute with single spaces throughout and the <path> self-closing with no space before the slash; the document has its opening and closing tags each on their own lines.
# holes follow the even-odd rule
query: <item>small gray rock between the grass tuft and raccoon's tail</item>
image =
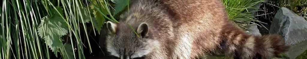
<svg viewBox="0 0 307 59">
<path fill-rule="evenodd" d="M 245 31 L 245 33 L 256 35 L 256 36 L 261 36 L 259 29 L 257 28 L 256 24 L 247 25 L 247 26 L 245 26 L 245 28 L 248 29 L 248 30 Z"/>
</svg>

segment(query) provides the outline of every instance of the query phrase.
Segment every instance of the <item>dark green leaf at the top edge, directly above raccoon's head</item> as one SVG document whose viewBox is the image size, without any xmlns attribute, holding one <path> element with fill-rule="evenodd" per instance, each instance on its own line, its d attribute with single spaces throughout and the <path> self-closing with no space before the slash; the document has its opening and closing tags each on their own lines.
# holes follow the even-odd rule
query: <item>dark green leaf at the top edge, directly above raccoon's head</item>
<svg viewBox="0 0 307 59">
<path fill-rule="evenodd" d="M 115 5 L 115 11 L 113 15 L 116 15 L 117 13 L 122 11 L 122 9 L 124 9 L 128 5 L 128 3 L 128 0 L 119 0 L 118 4 Z"/>
</svg>

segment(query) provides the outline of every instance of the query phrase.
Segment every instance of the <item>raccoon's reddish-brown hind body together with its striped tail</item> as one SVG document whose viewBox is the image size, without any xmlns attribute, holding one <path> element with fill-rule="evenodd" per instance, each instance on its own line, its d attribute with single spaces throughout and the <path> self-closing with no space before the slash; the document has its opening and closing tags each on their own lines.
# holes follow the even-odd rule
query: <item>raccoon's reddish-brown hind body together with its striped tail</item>
<svg viewBox="0 0 307 59">
<path fill-rule="evenodd" d="M 261 37 L 248 35 L 237 28 L 228 16 L 221 0 L 164 0 L 174 16 L 175 44 L 173 55 L 180 59 L 203 56 L 206 52 L 221 51 L 241 59 L 270 58 L 287 51 L 279 35 Z M 257 42 L 257 43 L 256 43 Z M 266 53 L 263 53 L 266 52 Z"/>
</svg>

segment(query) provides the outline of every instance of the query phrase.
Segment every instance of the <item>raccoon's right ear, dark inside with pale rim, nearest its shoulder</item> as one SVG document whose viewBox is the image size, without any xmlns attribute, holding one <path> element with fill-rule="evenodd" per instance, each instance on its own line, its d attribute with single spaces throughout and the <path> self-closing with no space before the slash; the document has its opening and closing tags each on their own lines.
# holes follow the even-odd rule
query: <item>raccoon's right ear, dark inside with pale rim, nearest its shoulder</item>
<svg viewBox="0 0 307 59">
<path fill-rule="evenodd" d="M 146 23 L 142 23 L 138 26 L 137 33 L 141 34 L 142 37 L 145 37 L 148 34 L 148 25 Z"/>
</svg>

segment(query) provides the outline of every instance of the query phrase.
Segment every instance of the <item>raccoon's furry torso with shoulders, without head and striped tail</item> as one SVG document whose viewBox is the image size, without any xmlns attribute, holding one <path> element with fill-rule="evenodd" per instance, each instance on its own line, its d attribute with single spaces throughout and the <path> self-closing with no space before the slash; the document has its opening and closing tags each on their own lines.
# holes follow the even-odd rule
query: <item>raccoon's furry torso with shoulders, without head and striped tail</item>
<svg viewBox="0 0 307 59">
<path fill-rule="evenodd" d="M 125 22 L 147 23 L 161 44 L 162 54 L 152 55 L 167 59 L 189 59 L 204 50 L 213 51 L 222 27 L 231 24 L 220 0 L 133 0 L 129 8 Z"/>
</svg>

